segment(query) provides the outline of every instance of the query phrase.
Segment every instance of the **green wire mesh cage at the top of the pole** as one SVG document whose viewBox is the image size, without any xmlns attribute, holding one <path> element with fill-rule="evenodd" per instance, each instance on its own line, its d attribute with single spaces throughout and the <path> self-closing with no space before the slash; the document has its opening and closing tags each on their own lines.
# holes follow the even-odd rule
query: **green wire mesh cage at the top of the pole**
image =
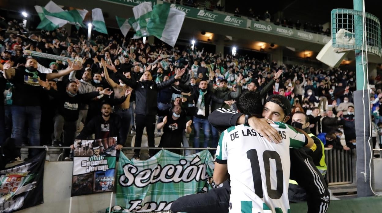
<svg viewBox="0 0 382 213">
<path fill-rule="evenodd" d="M 366 48 L 370 53 L 381 56 L 381 30 L 379 19 L 370 14 L 366 16 Z M 351 9 L 332 10 L 332 46 L 343 50 L 362 50 L 363 14 Z"/>
</svg>

